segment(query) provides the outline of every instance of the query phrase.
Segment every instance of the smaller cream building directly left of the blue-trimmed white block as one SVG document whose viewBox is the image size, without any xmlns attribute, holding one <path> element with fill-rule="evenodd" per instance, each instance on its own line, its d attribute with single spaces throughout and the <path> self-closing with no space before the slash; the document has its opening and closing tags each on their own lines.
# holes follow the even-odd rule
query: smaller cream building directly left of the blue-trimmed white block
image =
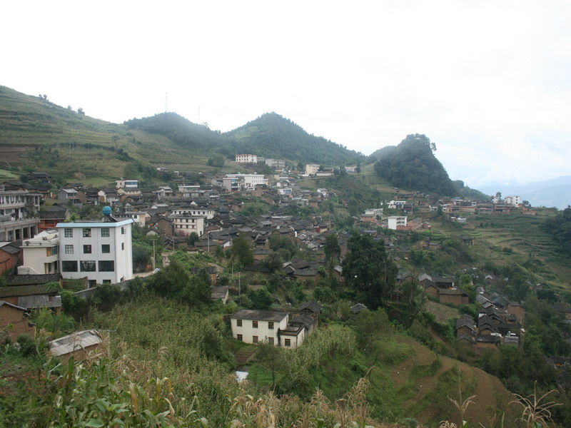
<svg viewBox="0 0 571 428">
<path fill-rule="evenodd" d="M 18 275 L 44 275 L 59 272 L 59 233 L 44 230 L 34 238 L 22 242 L 23 263 Z"/>
</svg>

